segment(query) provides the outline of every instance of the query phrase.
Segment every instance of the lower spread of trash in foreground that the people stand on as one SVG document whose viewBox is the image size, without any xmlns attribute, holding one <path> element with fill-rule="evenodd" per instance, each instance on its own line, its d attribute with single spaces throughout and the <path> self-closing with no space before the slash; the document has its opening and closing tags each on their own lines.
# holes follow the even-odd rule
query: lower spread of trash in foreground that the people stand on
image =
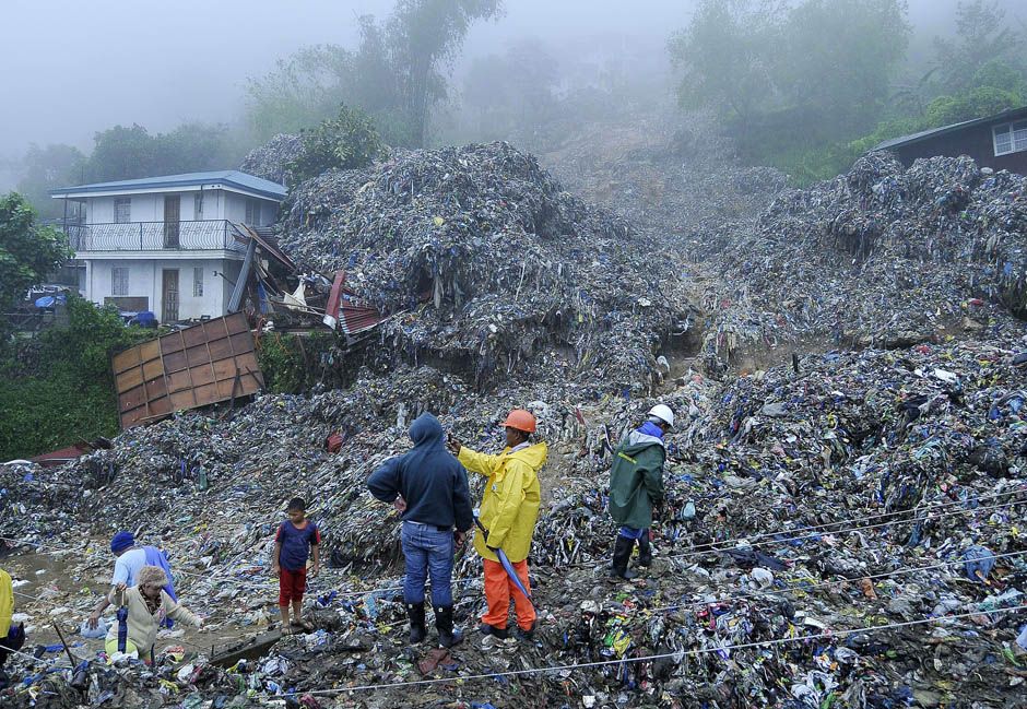
<svg viewBox="0 0 1027 709">
<path fill-rule="evenodd" d="M 20 522 L 4 513 L 3 535 L 38 524 L 32 539 L 56 544 L 83 525 L 105 540 L 116 527 L 139 524 L 149 541 L 163 535 L 176 568 L 201 575 L 186 578 L 186 598 L 212 614 L 215 627 L 256 629 L 273 614 L 268 554 L 282 505 L 296 493 L 310 496 L 334 567 L 311 589 L 326 606 L 320 630 L 282 641 L 234 673 L 194 653 L 185 675 L 169 663 L 166 676 L 185 698 L 199 692 L 238 702 L 249 692 L 256 706 L 294 688 L 297 697 L 316 692 L 324 707 L 386 707 L 404 690 L 344 688 L 438 677 L 452 682 L 422 688 L 413 706 L 445 699 L 503 707 L 516 699 L 578 707 L 594 697 L 595 706 L 884 708 L 957 696 L 979 707 L 1015 706 L 1008 702 L 1019 689 L 1011 682 L 1027 662 L 1027 639 L 1019 638 L 1027 613 L 1001 610 L 1023 605 L 1027 587 L 1025 350 L 1023 334 L 1003 335 L 808 355 L 798 373 L 777 367 L 724 385 L 693 375 L 664 398 L 680 417 L 668 441 L 669 504 L 653 528 L 657 566 L 634 584 L 604 579 L 616 528 L 604 510 L 603 441 L 615 442 L 651 400 L 593 403 L 577 412 L 586 425 L 566 390 L 565 399 L 530 402 L 553 448 L 532 557 L 539 636 L 530 645 L 472 636 L 434 664 L 429 647 L 412 652 L 404 643 L 398 525 L 364 480 L 405 449 L 402 430 L 421 406 L 439 412 L 468 445 L 494 450 L 504 410 L 530 389 L 491 398 L 422 367 L 309 400 L 262 397 L 226 421 L 186 413 L 133 429 L 114 450 L 59 474 L 37 471 L 29 486 L 59 489 L 110 458 L 114 480 L 86 498 L 102 498 L 109 513 L 97 518 L 76 501 L 59 517 L 51 509 L 59 496 L 28 494 Z M 332 430 L 346 434 L 338 454 L 321 450 Z M 206 461 L 206 489 L 191 473 L 176 483 L 175 461 L 189 454 Z M 37 497 L 45 503 L 33 504 Z M 64 499 L 71 497 L 68 491 Z M 80 553 L 91 569 L 109 567 L 98 550 Z M 479 562 L 471 553 L 457 568 L 458 617 L 471 628 L 482 611 Z M 79 615 L 93 600 L 81 591 L 47 598 L 78 604 Z M 46 617 L 46 608 L 33 612 Z M 958 617 L 873 629 L 946 615 Z M 788 640 L 804 635 L 818 640 Z M 757 641 L 783 645 L 718 649 Z M 924 666 L 925 646 L 947 651 Z M 651 654 L 661 658 L 460 681 Z M 176 682 L 181 676 L 201 680 Z M 122 682 L 139 692 L 133 677 L 128 672 Z"/>
</svg>

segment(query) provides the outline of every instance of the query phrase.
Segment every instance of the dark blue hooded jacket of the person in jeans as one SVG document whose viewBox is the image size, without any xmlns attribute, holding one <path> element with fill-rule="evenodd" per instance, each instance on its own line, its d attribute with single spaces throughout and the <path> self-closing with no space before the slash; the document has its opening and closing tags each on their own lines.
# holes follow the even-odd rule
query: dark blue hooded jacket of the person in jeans
<svg viewBox="0 0 1027 709">
<path fill-rule="evenodd" d="M 442 425 L 422 414 L 410 426 L 410 439 L 413 450 L 390 458 L 367 478 L 370 494 L 382 503 L 402 495 L 404 521 L 467 532 L 474 525 L 468 472 L 446 450 Z"/>
</svg>

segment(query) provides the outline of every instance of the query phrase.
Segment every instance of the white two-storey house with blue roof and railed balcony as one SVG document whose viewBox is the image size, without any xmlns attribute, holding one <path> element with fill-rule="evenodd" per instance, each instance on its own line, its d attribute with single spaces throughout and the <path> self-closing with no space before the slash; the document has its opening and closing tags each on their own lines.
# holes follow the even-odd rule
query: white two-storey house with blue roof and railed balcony
<svg viewBox="0 0 1027 709">
<path fill-rule="evenodd" d="M 285 188 L 238 170 L 67 187 L 64 231 L 98 305 L 162 322 L 227 311 L 249 240 L 274 223 Z M 69 215 L 74 214 L 71 218 Z"/>
</svg>

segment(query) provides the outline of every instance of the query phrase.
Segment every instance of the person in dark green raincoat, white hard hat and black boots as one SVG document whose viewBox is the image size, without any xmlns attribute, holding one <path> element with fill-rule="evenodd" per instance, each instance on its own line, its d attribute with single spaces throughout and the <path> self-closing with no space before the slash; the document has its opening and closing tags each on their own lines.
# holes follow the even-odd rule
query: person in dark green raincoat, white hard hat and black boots
<svg viewBox="0 0 1027 709">
<path fill-rule="evenodd" d="M 649 566 L 652 552 L 649 528 L 654 507 L 663 504 L 663 462 L 666 448 L 663 436 L 674 427 L 674 412 L 665 404 L 649 410 L 647 421 L 629 433 L 613 453 L 610 469 L 610 515 L 621 530 L 613 547 L 610 575 L 622 579 L 638 576 L 628 568 L 635 543 L 639 562 Z"/>
</svg>

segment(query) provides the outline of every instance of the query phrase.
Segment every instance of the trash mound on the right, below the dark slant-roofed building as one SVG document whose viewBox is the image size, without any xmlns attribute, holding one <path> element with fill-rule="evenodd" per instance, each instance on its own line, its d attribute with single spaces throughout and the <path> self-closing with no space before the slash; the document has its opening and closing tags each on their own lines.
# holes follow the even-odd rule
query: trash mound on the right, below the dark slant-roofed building
<svg viewBox="0 0 1027 709">
<path fill-rule="evenodd" d="M 811 338 L 910 344 L 1024 312 L 1027 178 L 966 157 L 888 153 L 781 193 L 752 228 L 710 232 L 723 273 L 704 304 L 708 352 Z M 994 306 L 1001 306 L 995 308 Z"/>
</svg>

